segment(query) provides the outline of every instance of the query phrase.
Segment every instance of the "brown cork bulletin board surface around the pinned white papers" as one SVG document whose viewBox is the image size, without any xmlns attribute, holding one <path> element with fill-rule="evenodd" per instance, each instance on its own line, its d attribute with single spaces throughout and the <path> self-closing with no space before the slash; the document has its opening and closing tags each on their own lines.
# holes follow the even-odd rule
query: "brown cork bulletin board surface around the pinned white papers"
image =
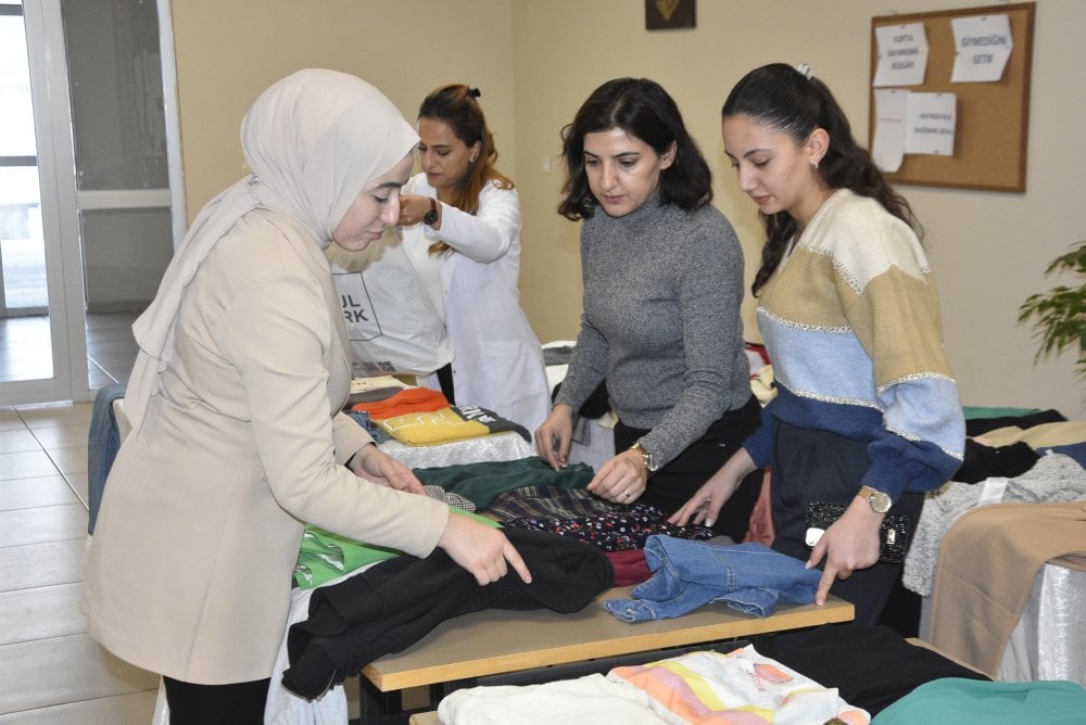
<svg viewBox="0 0 1086 725">
<path fill-rule="evenodd" d="M 884 174 L 891 183 L 1025 191 L 1026 138 L 1030 122 L 1030 76 L 1033 56 L 1034 2 L 989 5 L 871 18 L 871 98 L 869 147 L 875 133 L 874 78 L 879 65 L 875 28 L 922 23 L 927 35 L 927 72 L 913 92 L 957 94 L 954 155 L 906 154 L 897 171 Z M 950 21 L 974 15 L 1007 15 L 1013 49 L 1000 80 L 950 82 L 955 39 Z"/>
</svg>

